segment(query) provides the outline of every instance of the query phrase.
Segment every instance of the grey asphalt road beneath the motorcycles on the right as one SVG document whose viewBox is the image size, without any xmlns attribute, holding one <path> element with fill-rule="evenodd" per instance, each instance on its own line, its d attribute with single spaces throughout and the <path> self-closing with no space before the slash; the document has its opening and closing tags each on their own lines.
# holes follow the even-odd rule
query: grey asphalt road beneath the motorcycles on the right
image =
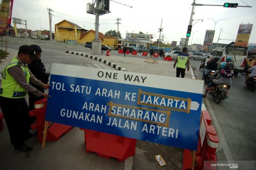
<svg viewBox="0 0 256 170">
<path fill-rule="evenodd" d="M 201 79 L 199 71 L 201 61 L 190 61 L 197 79 Z M 244 81 L 245 74 L 235 76 L 228 92 L 228 99 L 216 104 L 212 96 L 203 99 L 211 108 L 221 127 L 233 160 L 256 160 L 256 114 L 254 111 L 256 91 L 250 91 Z M 204 84 L 204 87 L 207 85 Z M 222 142 L 222 141 L 220 141 Z"/>
</svg>

